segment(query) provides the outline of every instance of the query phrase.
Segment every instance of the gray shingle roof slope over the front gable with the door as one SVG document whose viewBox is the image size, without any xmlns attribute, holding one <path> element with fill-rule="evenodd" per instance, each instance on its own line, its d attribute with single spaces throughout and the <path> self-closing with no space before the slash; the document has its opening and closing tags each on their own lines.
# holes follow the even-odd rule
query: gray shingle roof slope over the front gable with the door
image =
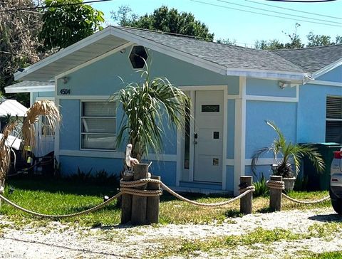
<svg viewBox="0 0 342 259">
<path fill-rule="evenodd" d="M 299 65 L 271 51 L 213 43 L 187 36 L 175 36 L 123 26 L 117 28 L 226 68 L 304 72 Z"/>
</svg>

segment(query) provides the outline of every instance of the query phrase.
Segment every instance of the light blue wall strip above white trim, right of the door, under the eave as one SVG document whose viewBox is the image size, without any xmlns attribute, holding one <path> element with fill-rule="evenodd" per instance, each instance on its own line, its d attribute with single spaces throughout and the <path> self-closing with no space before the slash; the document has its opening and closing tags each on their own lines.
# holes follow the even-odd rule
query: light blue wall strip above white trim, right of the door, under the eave
<svg viewBox="0 0 342 259">
<path fill-rule="evenodd" d="M 278 80 L 264 80 L 257 78 L 247 78 L 247 95 L 263 95 L 276 97 L 296 97 L 296 88 L 279 88 Z"/>
</svg>

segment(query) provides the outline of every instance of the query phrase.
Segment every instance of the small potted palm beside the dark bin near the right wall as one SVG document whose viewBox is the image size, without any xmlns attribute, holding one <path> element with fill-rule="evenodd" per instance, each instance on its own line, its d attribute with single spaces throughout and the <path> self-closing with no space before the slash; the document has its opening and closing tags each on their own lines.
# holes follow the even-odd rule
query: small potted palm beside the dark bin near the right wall
<svg viewBox="0 0 342 259">
<path fill-rule="evenodd" d="M 274 122 L 266 121 L 266 124 L 274 129 L 277 137 L 273 140 L 273 142 L 271 142 L 271 145 L 269 147 L 263 147 L 254 153 L 252 157 L 252 171 L 254 175 L 259 157 L 268 152 L 273 153 L 275 161 L 277 161 L 278 157 L 281 159 L 276 164 L 272 164 L 271 169 L 273 171 L 273 174 L 283 176 L 286 191 L 290 191 L 294 188 L 294 181 L 296 181 L 296 177 L 299 174 L 301 159 L 304 156 L 308 157 L 311 162 L 314 163 L 317 171 L 324 170 L 325 165 L 321 154 L 319 154 L 317 149 L 308 145 L 303 146 L 300 144 L 293 144 L 291 142 L 288 142 L 286 141 L 284 134 L 281 132 L 279 127 L 274 124 Z M 291 159 L 293 159 L 294 161 L 294 170 L 292 169 L 290 163 Z"/>
</svg>

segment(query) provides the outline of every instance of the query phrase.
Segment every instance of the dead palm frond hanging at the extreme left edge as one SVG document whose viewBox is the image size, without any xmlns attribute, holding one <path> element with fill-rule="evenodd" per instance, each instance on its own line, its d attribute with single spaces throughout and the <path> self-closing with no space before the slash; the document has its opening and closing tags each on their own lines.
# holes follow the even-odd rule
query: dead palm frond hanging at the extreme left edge
<svg viewBox="0 0 342 259">
<path fill-rule="evenodd" d="M 9 122 L 3 130 L 3 136 L 0 139 L 0 181 L 4 183 L 9 166 L 11 166 L 11 143 L 8 142 L 9 134 L 16 129 L 18 122 Z"/>
</svg>

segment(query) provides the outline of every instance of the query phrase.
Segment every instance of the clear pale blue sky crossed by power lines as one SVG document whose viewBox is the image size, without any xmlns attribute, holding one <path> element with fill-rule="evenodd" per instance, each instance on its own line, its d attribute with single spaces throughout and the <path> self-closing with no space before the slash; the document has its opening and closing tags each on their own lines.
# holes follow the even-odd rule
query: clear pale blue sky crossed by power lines
<svg viewBox="0 0 342 259">
<path fill-rule="evenodd" d="M 113 0 L 91 5 L 103 11 L 108 25 L 115 25 L 110 11 L 117 11 L 119 6 L 128 5 L 135 14 L 142 16 L 146 13 L 151 14 L 158 7 L 166 5 L 178 11 L 194 14 L 197 20 L 207 25 L 210 33 L 214 33 L 216 40 L 229 38 L 230 41 L 236 41 L 237 45 L 247 47 L 253 47 L 257 40 L 278 39 L 283 43 L 289 42 L 286 33 L 292 34 L 295 31 L 304 43 L 310 31 L 318 35 L 331 36 L 332 40 L 335 40 L 336 36 L 342 36 L 342 0 L 323 3 L 286 3 L 266 0 Z M 274 16 L 282 16 L 286 19 Z M 309 23 L 308 20 L 315 23 Z M 296 23 L 300 24 L 297 29 Z"/>
</svg>

